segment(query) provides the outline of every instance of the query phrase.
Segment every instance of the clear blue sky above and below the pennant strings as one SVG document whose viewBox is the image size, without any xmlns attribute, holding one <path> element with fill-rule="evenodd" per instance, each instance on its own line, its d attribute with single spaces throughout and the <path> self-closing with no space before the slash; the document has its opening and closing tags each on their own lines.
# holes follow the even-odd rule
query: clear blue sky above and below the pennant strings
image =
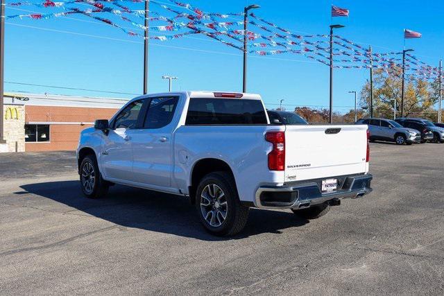
<svg viewBox="0 0 444 296">
<path fill-rule="evenodd" d="M 32 2 L 39 2 L 30 0 Z M 165 0 L 163 0 L 165 1 Z M 13 1 L 6 0 L 7 3 Z M 240 12 L 251 3 L 261 6 L 255 13 L 295 33 L 327 34 L 330 25 L 329 0 L 182 0 L 209 12 Z M 438 65 L 444 49 L 442 1 L 334 1 L 348 8 L 350 17 L 336 17 L 334 23 L 345 28 L 337 31 L 343 37 L 371 44 L 375 51 L 400 51 L 402 30 L 410 28 L 422 33 L 422 38 L 407 40 L 422 61 Z M 143 9 L 143 3 L 132 8 Z M 153 7 L 153 4 L 152 4 Z M 48 12 L 31 6 L 19 9 Z M 154 7 L 153 7 L 154 8 Z M 6 8 L 6 15 L 27 14 Z M 157 8 L 153 10 L 160 11 Z M 40 85 L 60 85 L 83 89 L 103 89 L 110 92 L 142 93 L 143 44 L 137 37 L 127 36 L 105 24 L 74 19 L 11 19 L 6 24 L 5 80 Z M 111 17 L 110 17 L 111 18 Z M 16 26 L 18 24 L 22 26 Z M 96 35 L 110 39 L 44 31 L 37 26 L 56 31 Z M 241 91 L 241 52 L 213 42 L 205 36 L 160 42 L 151 40 L 149 92 L 164 92 L 167 81 L 162 75 L 177 76 L 174 90 Z M 335 69 L 334 109 L 350 110 L 354 104 L 349 90 L 360 90 L 368 79 L 366 69 Z M 85 96 L 127 97 L 132 95 L 101 94 L 80 90 L 52 89 L 5 84 L 6 91 L 48 92 Z M 301 55 L 282 54 L 268 57 L 250 55 L 248 59 L 248 92 L 262 94 L 268 107 L 277 107 L 283 98 L 287 109 L 296 105 L 327 107 L 329 103 L 329 68 L 307 60 Z"/>
</svg>

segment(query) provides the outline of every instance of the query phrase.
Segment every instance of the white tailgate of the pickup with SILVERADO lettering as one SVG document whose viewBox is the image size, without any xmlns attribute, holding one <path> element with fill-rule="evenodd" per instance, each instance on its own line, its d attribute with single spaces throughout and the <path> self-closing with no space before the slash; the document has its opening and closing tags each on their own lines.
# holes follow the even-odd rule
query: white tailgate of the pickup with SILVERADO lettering
<svg viewBox="0 0 444 296">
<path fill-rule="evenodd" d="M 364 173 L 367 125 L 287 125 L 285 182 Z"/>
</svg>

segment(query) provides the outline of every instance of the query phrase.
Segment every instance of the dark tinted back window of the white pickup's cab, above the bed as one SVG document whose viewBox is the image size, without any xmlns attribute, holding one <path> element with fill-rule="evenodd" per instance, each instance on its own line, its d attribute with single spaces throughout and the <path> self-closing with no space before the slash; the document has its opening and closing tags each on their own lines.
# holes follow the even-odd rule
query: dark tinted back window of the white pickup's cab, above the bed
<svg viewBox="0 0 444 296">
<path fill-rule="evenodd" d="M 190 98 L 185 125 L 266 125 L 260 100 Z"/>
</svg>

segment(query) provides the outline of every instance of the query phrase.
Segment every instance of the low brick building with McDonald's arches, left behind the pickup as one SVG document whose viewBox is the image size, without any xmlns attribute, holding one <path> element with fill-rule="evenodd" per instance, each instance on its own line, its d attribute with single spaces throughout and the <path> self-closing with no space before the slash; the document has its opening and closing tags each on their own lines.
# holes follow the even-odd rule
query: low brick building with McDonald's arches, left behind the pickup
<svg viewBox="0 0 444 296">
<path fill-rule="evenodd" d="M 0 152 L 75 150 L 80 131 L 110 119 L 127 99 L 7 94 L 3 105 L 6 144 Z"/>
</svg>

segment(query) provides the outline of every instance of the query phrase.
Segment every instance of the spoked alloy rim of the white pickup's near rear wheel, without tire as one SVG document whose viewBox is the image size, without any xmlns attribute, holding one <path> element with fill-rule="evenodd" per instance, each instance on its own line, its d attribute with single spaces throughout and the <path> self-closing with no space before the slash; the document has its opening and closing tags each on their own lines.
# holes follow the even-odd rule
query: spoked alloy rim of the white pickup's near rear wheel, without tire
<svg viewBox="0 0 444 296">
<path fill-rule="evenodd" d="M 219 227 L 227 218 L 228 204 L 225 193 L 216 184 L 208 184 L 200 194 L 200 213 L 212 227 Z"/>
</svg>

